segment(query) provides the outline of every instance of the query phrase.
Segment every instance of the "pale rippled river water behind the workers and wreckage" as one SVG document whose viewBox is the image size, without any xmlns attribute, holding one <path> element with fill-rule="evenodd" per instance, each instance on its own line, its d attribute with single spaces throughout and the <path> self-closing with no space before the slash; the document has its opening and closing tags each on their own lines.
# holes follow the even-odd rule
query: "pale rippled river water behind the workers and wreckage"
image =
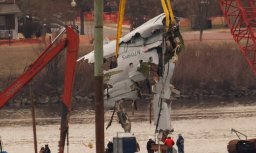
<svg viewBox="0 0 256 153">
<path fill-rule="evenodd" d="M 138 102 L 138 110 L 131 115 L 131 108 L 126 104 L 132 127 L 131 132 L 140 144 L 141 152 L 147 153 L 148 136 L 154 137 L 154 121 L 149 124 L 149 103 Z M 0 110 L 0 136 L 4 151 L 8 153 L 34 153 L 31 106 L 4 106 Z M 60 137 L 61 106 L 36 106 L 36 132 L 38 148 L 49 144 L 52 153 L 58 151 Z M 96 153 L 94 105 L 80 103 L 73 105 L 69 124 L 69 152 Z M 112 111 L 105 113 L 105 126 Z M 105 130 L 105 146 L 107 140 L 123 132 L 115 115 L 112 126 Z M 177 101 L 172 103 L 172 138 L 177 139 L 182 133 L 185 139 L 186 153 L 227 153 L 226 145 L 237 136 L 231 134 L 231 128 L 256 138 L 256 99 L 218 99 L 202 101 Z M 94 144 L 93 149 L 83 143 Z M 176 147 L 176 146 L 175 146 Z M 176 147 L 177 148 L 177 147 Z M 65 148 L 67 153 L 67 148 Z"/>
</svg>

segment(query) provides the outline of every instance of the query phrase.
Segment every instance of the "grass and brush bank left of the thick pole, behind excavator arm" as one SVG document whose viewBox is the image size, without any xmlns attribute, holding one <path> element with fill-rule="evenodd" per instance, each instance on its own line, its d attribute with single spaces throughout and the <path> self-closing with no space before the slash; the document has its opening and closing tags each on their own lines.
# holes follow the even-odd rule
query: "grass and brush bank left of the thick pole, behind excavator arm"
<svg viewBox="0 0 256 153">
<path fill-rule="evenodd" d="M 0 48 L 0 93 L 29 66 L 45 46 L 11 46 Z M 94 50 L 93 45 L 80 45 L 79 57 Z M 35 102 L 46 104 L 59 103 L 64 89 L 65 51 L 55 57 L 43 70 L 33 78 Z M 83 66 L 81 65 L 83 64 Z M 74 97 L 77 101 L 91 101 L 94 69 L 92 65 L 81 62 L 77 65 Z M 81 83 L 83 82 L 83 83 Z M 25 86 L 8 104 L 30 104 L 29 86 Z M 79 96 L 81 95 L 81 96 Z M 87 97 L 86 97 L 87 96 Z M 89 99 L 90 97 L 91 99 Z"/>
</svg>

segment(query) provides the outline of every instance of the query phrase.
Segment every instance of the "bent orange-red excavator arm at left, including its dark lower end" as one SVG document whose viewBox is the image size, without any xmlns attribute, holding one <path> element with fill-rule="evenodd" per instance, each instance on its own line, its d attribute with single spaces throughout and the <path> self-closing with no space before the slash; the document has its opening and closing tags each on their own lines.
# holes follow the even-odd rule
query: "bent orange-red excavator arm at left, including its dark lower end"
<svg viewBox="0 0 256 153">
<path fill-rule="evenodd" d="M 54 43 L 66 31 L 66 38 Z M 68 135 L 68 120 L 71 111 L 71 98 L 76 60 L 79 49 L 79 36 L 71 27 L 66 26 L 60 34 L 46 47 L 44 51 L 32 62 L 26 72 L 17 78 L 7 89 L 0 93 L 0 109 L 24 86 L 26 86 L 36 74 L 38 74 L 58 53 L 66 48 L 66 64 L 64 79 L 64 94 L 61 119 L 61 134 L 59 142 L 59 153 L 64 153 L 65 139 Z"/>
</svg>

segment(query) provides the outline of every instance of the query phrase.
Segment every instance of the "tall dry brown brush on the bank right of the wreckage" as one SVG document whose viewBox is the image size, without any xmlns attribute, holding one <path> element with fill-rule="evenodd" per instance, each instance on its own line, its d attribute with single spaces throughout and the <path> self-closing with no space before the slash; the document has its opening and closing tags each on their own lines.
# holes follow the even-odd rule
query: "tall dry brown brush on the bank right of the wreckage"
<svg viewBox="0 0 256 153">
<path fill-rule="evenodd" d="M 199 87 L 214 81 L 250 86 L 256 83 L 255 74 L 234 42 L 189 43 L 179 54 L 172 84 L 179 89 Z"/>
</svg>

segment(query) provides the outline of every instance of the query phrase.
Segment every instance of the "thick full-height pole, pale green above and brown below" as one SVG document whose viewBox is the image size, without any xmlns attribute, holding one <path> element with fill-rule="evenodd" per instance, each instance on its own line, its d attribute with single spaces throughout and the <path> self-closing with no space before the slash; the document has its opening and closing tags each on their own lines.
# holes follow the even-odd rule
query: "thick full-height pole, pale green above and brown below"
<svg viewBox="0 0 256 153">
<path fill-rule="evenodd" d="M 96 153 L 104 153 L 103 97 L 103 0 L 94 0 L 95 8 L 95 130 Z"/>
</svg>

